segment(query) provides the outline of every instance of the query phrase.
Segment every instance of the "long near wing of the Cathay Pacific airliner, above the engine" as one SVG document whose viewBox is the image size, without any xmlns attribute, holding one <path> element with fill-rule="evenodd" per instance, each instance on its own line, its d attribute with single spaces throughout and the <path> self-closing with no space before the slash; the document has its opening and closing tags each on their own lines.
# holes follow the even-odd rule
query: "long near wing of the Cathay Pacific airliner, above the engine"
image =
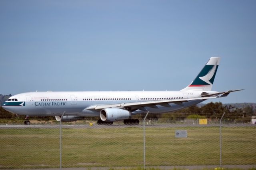
<svg viewBox="0 0 256 170">
<path fill-rule="evenodd" d="M 241 89 L 242 90 L 242 89 Z M 101 110 L 106 108 L 130 108 L 130 109 L 138 109 L 143 107 L 151 107 L 158 108 L 157 105 L 161 105 L 164 107 L 171 107 L 170 103 L 174 103 L 176 105 L 183 105 L 184 102 L 193 101 L 193 100 L 206 100 L 206 99 L 215 99 L 218 97 L 226 97 L 229 93 L 240 90 L 230 90 L 222 93 L 214 93 L 203 95 L 202 97 L 197 98 L 188 98 L 188 99 L 170 99 L 170 100 L 156 100 L 156 101 L 140 101 L 140 102 L 132 102 L 132 103 L 118 103 L 111 105 L 92 105 L 86 108 L 86 110 Z"/>
</svg>

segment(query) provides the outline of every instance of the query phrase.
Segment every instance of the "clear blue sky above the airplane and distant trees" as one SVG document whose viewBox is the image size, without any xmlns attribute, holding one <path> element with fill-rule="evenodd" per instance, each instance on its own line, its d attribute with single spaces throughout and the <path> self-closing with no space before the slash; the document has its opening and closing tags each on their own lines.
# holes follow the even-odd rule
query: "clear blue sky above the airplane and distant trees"
<svg viewBox="0 0 256 170">
<path fill-rule="evenodd" d="M 180 90 L 222 57 L 212 90 L 256 102 L 255 0 L 1 0 L 0 93 Z"/>
</svg>

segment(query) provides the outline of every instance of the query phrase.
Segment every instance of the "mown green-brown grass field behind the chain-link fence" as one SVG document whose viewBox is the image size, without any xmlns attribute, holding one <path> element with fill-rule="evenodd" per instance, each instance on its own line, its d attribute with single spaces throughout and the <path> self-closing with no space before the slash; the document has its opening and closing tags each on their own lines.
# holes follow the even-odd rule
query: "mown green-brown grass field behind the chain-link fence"
<svg viewBox="0 0 256 170">
<path fill-rule="evenodd" d="M 0 168 L 58 167 L 59 132 L 0 129 Z M 146 165 L 218 165 L 219 143 L 218 127 L 146 128 Z M 63 128 L 62 144 L 63 167 L 143 166 L 143 128 Z M 222 164 L 256 164 L 255 127 L 222 127 Z"/>
</svg>

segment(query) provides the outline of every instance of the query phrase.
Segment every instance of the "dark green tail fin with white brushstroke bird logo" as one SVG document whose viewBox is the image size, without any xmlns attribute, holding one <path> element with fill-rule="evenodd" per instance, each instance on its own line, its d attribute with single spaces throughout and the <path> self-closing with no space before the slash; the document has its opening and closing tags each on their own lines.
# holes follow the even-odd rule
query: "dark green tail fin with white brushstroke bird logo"
<svg viewBox="0 0 256 170">
<path fill-rule="evenodd" d="M 194 81 L 182 91 L 211 91 L 219 64 L 220 57 L 211 57 Z"/>
</svg>

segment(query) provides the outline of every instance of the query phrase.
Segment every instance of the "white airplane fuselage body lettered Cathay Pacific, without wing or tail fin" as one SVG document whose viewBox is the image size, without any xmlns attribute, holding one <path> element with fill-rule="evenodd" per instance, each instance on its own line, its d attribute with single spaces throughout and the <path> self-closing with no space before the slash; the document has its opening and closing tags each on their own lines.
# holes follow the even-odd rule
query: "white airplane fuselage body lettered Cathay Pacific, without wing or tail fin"
<svg viewBox="0 0 256 170">
<path fill-rule="evenodd" d="M 29 116 L 99 116 L 100 111 L 86 109 L 93 105 L 110 105 L 119 103 L 134 103 L 143 101 L 159 101 L 170 99 L 190 99 L 200 97 L 202 91 L 76 91 L 76 92 L 30 92 L 14 95 L 17 101 L 6 101 L 4 109 L 18 115 Z M 214 92 L 215 93 L 215 92 Z M 136 108 L 132 115 L 145 113 L 172 112 L 204 100 L 193 100 L 184 103 L 170 103 L 170 107 Z M 23 103 L 24 102 L 24 103 Z"/>
</svg>

